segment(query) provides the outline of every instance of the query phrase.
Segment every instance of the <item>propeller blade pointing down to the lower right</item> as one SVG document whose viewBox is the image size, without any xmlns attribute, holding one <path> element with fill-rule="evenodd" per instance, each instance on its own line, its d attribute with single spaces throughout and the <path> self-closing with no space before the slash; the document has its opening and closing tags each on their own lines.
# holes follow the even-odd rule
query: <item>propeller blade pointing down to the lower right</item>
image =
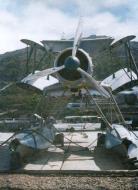
<svg viewBox="0 0 138 190">
<path fill-rule="evenodd" d="M 85 72 L 83 69 L 81 69 L 80 67 L 77 68 L 77 71 L 82 74 L 83 76 L 85 76 L 90 83 L 92 84 L 92 87 L 94 87 L 100 94 L 102 94 L 103 96 L 105 96 L 106 98 L 110 98 L 110 94 L 108 93 L 107 90 L 105 90 L 102 86 L 100 86 L 97 81 L 91 76 L 89 75 L 87 72 Z"/>
</svg>

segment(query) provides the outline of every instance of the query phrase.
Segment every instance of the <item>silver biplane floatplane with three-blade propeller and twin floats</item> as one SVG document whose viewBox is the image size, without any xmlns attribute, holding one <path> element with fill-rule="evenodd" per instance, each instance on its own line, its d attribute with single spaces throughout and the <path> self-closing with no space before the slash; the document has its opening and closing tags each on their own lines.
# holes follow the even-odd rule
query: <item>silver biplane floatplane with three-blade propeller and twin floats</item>
<svg viewBox="0 0 138 190">
<path fill-rule="evenodd" d="M 111 50 L 121 44 L 127 45 L 135 36 L 127 36 L 119 41 L 114 41 L 111 37 L 82 38 L 81 24 L 79 23 L 74 39 L 69 40 L 44 40 L 41 43 L 28 39 L 21 41 L 30 47 L 36 55 L 37 50 L 44 52 L 41 61 L 48 53 L 56 55 L 54 66 L 42 71 L 33 71 L 24 79 L 17 83 L 18 86 L 42 92 L 45 96 L 70 96 L 72 93 L 85 91 L 89 95 L 89 103 L 95 103 L 97 113 L 101 116 L 106 125 L 105 133 L 99 136 L 104 139 L 103 145 L 106 149 L 117 149 L 121 152 L 128 162 L 136 164 L 138 162 L 138 137 L 127 127 L 123 115 L 113 96 L 114 91 L 121 87 L 137 81 L 137 73 L 123 68 L 111 75 L 101 83 L 93 77 L 92 55 L 103 50 Z M 131 58 L 132 55 L 130 54 Z M 34 63 L 35 65 L 35 63 Z M 135 65 L 136 67 L 136 65 Z M 27 62 L 28 68 L 28 62 Z M 136 67 L 137 71 L 137 67 Z M 110 99 L 114 103 L 118 114 L 118 122 L 111 123 L 106 118 L 105 113 L 95 101 L 92 91 L 96 90 L 105 99 Z M 50 147 L 56 138 L 56 130 L 53 127 L 53 119 L 46 122 L 43 118 L 36 115 L 40 125 L 35 129 L 16 134 L 11 140 L 10 149 L 15 157 L 22 156 L 23 150 L 43 150 Z M 62 142 L 63 143 L 63 142 Z M 26 151 L 27 152 L 27 151 Z M 16 160 L 16 159 L 15 159 Z"/>
</svg>

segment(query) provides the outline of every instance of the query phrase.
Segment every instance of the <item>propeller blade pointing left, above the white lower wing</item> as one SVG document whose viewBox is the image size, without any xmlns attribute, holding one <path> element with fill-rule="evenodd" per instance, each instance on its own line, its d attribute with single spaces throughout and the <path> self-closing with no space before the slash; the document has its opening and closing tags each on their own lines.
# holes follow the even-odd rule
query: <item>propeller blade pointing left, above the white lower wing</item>
<svg viewBox="0 0 138 190">
<path fill-rule="evenodd" d="M 64 65 L 60 66 L 60 67 L 52 67 L 50 69 L 45 69 L 43 71 L 38 71 L 37 73 L 34 73 L 34 74 L 30 74 L 29 76 L 27 76 L 25 78 L 26 81 L 29 81 L 29 80 L 36 80 L 38 79 L 39 77 L 44 77 L 44 76 L 48 76 L 48 75 L 51 75 L 53 73 L 56 73 L 62 69 L 64 69 Z"/>
</svg>

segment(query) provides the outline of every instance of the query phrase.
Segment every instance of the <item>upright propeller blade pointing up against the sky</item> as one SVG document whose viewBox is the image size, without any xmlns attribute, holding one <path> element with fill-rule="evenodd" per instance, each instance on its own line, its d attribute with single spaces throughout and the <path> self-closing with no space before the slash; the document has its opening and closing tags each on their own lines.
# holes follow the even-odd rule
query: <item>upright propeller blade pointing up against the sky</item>
<svg viewBox="0 0 138 190">
<path fill-rule="evenodd" d="M 72 49 L 72 57 L 76 56 L 77 49 L 78 49 L 80 41 L 81 41 L 81 37 L 82 37 L 82 19 L 79 20 L 78 27 L 76 29 L 74 43 L 73 43 L 73 49 Z"/>
</svg>

